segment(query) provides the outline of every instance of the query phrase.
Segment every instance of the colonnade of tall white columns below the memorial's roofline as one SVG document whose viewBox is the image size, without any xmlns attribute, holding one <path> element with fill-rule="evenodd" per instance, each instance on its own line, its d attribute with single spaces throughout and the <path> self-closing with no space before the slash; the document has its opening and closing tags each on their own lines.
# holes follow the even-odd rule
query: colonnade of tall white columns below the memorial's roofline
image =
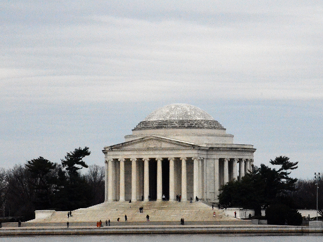
<svg viewBox="0 0 323 242">
<path fill-rule="evenodd" d="M 220 184 L 226 184 L 230 180 L 236 180 L 238 177 L 238 163 L 239 163 L 239 179 L 241 179 L 242 175 L 245 174 L 246 169 L 250 170 L 252 160 L 249 162 L 246 159 L 238 159 L 238 158 L 216 158 L 212 159 L 211 163 L 209 161 L 204 160 L 203 157 L 157 157 L 157 158 L 147 158 L 147 157 L 137 157 L 137 158 L 115 158 L 115 159 L 107 159 L 105 161 L 105 201 L 126 201 L 132 200 L 136 201 L 141 196 L 144 201 L 149 200 L 149 184 L 155 184 L 155 188 L 152 191 L 155 191 L 154 199 L 162 200 L 163 199 L 163 160 L 169 161 L 169 194 L 166 194 L 166 199 L 175 200 L 175 195 L 181 195 L 182 200 L 189 200 L 187 196 L 188 193 L 191 193 L 190 196 L 193 195 L 198 197 L 199 199 L 204 199 L 204 193 L 202 191 L 206 191 L 207 186 L 213 187 L 214 191 L 214 199 L 217 199 L 219 195 Z M 191 160 L 191 166 L 189 166 L 189 170 L 187 170 L 187 160 Z M 155 175 L 152 175 L 151 178 L 149 174 L 149 160 L 151 162 L 156 162 Z M 202 161 L 204 164 L 202 164 Z M 222 170 L 220 171 L 220 161 L 222 162 Z M 117 163 L 119 162 L 119 163 Z M 125 166 L 126 162 L 130 162 L 130 166 L 128 165 L 127 169 Z M 138 162 L 142 162 L 140 165 Z M 212 167 L 212 183 L 210 184 L 207 181 L 209 176 L 209 167 Z M 141 168 L 140 168 L 141 167 Z M 176 168 L 177 167 L 177 168 Z M 180 167 L 180 168 L 179 168 Z M 249 167 L 249 168 L 247 168 Z M 142 169 L 142 170 L 141 170 Z M 179 170 L 180 169 L 180 170 Z M 116 173 L 118 171 L 118 175 Z M 179 170 L 180 176 L 175 175 L 175 172 Z M 126 179 L 125 174 L 131 172 L 131 196 L 125 196 L 126 189 Z M 142 175 L 139 175 L 141 173 Z M 187 174 L 192 174 L 192 177 L 187 179 Z M 141 177 L 141 178 L 140 178 Z M 221 181 L 222 177 L 222 181 Z M 142 180 L 140 180 L 142 179 Z M 155 181 L 150 181 L 150 179 L 155 179 Z M 191 181 L 190 181 L 191 179 Z M 206 179 L 206 180 L 205 180 Z M 188 187 L 188 184 L 192 183 L 192 187 Z M 129 182 L 128 182 L 129 184 Z M 129 186 L 129 185 L 128 185 Z M 192 190 L 190 190 L 192 189 Z M 112 192 L 110 192 L 112 191 Z M 142 192 L 140 192 L 142 191 Z M 139 193 L 138 193 L 139 192 Z M 119 195 L 119 197 L 117 196 Z M 213 198 L 212 198 L 213 199 Z"/>
</svg>

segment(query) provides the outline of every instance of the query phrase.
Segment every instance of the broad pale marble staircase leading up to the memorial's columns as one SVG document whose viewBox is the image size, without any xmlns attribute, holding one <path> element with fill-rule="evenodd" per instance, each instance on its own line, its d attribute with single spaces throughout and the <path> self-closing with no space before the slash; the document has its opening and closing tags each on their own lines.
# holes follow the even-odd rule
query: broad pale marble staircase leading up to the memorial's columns
<svg viewBox="0 0 323 242">
<path fill-rule="evenodd" d="M 143 207 L 143 213 L 139 213 L 139 207 Z M 213 216 L 216 212 L 216 216 Z M 144 222 L 146 215 L 150 221 L 221 221 L 232 220 L 225 216 L 223 210 L 212 208 L 202 202 L 189 201 L 133 201 L 129 202 L 104 202 L 92 207 L 81 208 L 72 211 L 72 217 L 68 218 L 68 211 L 56 211 L 49 218 L 34 219 L 29 222 L 96 222 L 98 220 L 125 221 L 125 215 L 129 222 Z"/>
</svg>

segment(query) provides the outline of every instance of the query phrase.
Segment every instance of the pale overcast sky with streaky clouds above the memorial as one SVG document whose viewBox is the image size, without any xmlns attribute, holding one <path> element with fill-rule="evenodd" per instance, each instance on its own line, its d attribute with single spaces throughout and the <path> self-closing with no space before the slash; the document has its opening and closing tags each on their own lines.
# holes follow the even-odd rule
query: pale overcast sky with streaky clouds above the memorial
<svg viewBox="0 0 323 242">
<path fill-rule="evenodd" d="M 323 171 L 323 1 L 157 2 L 0 2 L 0 167 L 84 146 L 104 165 L 150 112 L 188 103 L 255 165 Z"/>
</svg>

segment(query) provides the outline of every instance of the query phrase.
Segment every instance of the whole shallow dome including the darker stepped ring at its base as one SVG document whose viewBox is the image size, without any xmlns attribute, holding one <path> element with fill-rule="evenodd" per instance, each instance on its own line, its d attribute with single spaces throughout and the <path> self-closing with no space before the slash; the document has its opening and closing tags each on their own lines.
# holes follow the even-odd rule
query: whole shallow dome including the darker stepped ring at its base
<svg viewBox="0 0 323 242">
<path fill-rule="evenodd" d="M 176 103 L 151 112 L 134 130 L 222 129 L 222 125 L 199 107 Z"/>
</svg>

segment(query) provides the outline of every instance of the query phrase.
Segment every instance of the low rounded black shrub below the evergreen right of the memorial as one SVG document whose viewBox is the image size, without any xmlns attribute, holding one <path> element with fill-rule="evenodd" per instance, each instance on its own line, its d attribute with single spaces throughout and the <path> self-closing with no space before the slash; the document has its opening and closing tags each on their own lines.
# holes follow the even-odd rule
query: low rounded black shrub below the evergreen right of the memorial
<svg viewBox="0 0 323 242">
<path fill-rule="evenodd" d="M 296 209 L 291 209 L 284 204 L 273 204 L 266 208 L 265 217 L 268 224 L 301 225 L 303 218 Z"/>
</svg>

